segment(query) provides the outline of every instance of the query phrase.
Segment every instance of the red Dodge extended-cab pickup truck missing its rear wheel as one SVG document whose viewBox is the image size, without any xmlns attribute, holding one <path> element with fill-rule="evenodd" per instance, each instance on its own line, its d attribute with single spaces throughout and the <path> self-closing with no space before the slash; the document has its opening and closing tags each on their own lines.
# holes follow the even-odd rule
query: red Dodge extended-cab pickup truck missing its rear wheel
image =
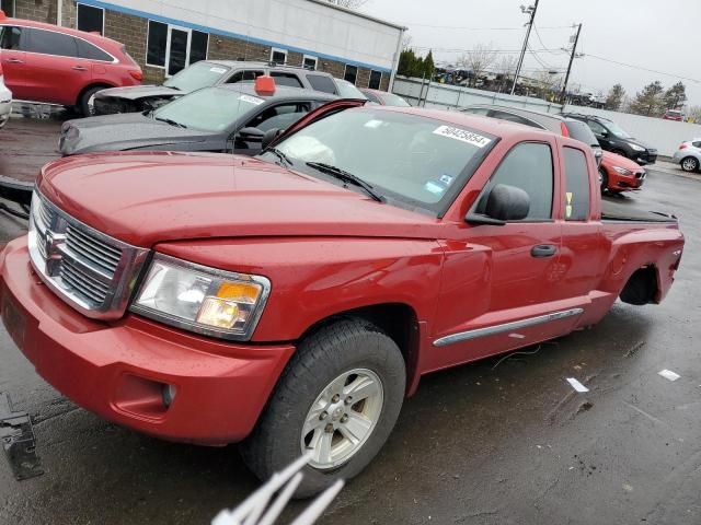
<svg viewBox="0 0 701 525">
<path fill-rule="evenodd" d="M 0 256 L 2 317 L 80 406 L 166 440 L 243 441 L 298 495 L 358 474 L 420 377 L 659 303 L 674 217 L 602 210 L 587 144 L 415 108 L 309 114 L 258 158 L 45 166 Z"/>
</svg>

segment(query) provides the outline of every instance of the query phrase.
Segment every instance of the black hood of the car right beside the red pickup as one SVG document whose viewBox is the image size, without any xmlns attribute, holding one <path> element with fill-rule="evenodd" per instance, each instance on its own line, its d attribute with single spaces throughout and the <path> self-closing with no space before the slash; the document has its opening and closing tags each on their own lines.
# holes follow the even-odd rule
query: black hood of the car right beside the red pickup
<svg viewBox="0 0 701 525">
<path fill-rule="evenodd" d="M 212 133 L 179 128 L 140 113 L 69 120 L 61 127 L 62 155 L 96 151 L 124 151 L 204 142 Z"/>
</svg>

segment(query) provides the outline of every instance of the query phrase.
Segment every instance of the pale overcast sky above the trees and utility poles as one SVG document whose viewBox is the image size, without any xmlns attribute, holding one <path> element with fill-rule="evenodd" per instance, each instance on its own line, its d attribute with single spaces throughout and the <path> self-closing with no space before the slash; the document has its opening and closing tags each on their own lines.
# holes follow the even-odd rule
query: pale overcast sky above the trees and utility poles
<svg viewBox="0 0 701 525">
<path fill-rule="evenodd" d="M 520 5 L 532 2 L 368 0 L 361 11 L 407 26 L 416 51 L 430 48 L 437 61 L 455 63 L 462 50 L 480 44 L 514 51 L 518 58 L 528 20 Z M 531 32 L 529 40 L 537 52 L 527 55 L 525 74 L 544 69 L 542 65 L 564 73 L 570 57 L 561 48 L 571 46 L 572 25 L 582 23 L 577 51 L 584 57 L 574 61 L 570 86 L 579 84 L 583 92 L 606 94 L 621 83 L 633 97 L 655 80 L 665 88 L 682 81 L 688 104 L 701 105 L 700 22 L 701 0 L 540 0 L 538 31 Z"/>
</svg>

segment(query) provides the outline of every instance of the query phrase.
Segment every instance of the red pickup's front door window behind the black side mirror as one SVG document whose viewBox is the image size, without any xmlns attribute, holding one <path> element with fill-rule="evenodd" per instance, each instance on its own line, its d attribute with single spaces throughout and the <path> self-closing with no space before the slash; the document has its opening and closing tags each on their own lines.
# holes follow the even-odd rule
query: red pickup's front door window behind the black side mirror
<svg viewBox="0 0 701 525">
<path fill-rule="evenodd" d="M 553 164 L 549 144 L 524 142 L 514 147 L 482 190 L 476 212 L 484 213 L 486 197 L 497 184 L 515 186 L 530 197 L 530 210 L 524 221 L 552 218 Z"/>
</svg>

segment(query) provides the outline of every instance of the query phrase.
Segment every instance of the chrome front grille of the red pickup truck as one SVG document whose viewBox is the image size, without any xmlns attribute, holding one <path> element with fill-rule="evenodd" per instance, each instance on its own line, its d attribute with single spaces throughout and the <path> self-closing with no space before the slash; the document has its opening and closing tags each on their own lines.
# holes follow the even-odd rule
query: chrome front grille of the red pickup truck
<svg viewBox="0 0 701 525">
<path fill-rule="evenodd" d="M 123 243 L 32 198 L 30 256 L 44 282 L 88 317 L 124 315 L 148 250 Z"/>
</svg>

